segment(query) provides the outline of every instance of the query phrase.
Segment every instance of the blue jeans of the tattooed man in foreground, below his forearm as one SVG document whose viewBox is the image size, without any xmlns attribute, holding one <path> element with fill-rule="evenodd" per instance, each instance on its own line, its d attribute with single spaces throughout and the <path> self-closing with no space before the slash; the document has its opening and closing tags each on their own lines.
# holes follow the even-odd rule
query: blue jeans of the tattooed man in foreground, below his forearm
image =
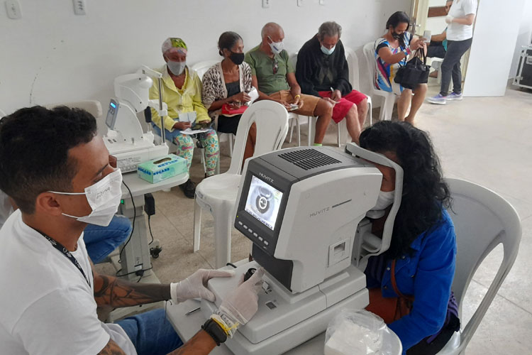
<svg viewBox="0 0 532 355">
<path fill-rule="evenodd" d="M 126 331 L 138 355 L 165 355 L 183 345 L 162 308 L 118 320 L 116 324 Z"/>
</svg>

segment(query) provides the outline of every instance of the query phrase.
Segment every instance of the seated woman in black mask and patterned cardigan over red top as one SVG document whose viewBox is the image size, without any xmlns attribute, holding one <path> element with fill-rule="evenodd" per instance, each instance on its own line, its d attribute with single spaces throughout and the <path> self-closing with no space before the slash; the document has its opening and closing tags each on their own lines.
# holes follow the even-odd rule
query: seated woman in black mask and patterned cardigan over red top
<svg viewBox="0 0 532 355">
<path fill-rule="evenodd" d="M 244 43 L 240 35 L 222 33 L 218 49 L 223 60 L 209 68 L 203 77 L 203 104 L 211 119 L 218 118 L 219 132 L 236 134 L 243 111 L 258 94 L 255 96 L 251 92 L 251 69 L 244 62 Z M 245 144 L 244 160 L 253 156 L 256 134 L 253 124 Z"/>
</svg>

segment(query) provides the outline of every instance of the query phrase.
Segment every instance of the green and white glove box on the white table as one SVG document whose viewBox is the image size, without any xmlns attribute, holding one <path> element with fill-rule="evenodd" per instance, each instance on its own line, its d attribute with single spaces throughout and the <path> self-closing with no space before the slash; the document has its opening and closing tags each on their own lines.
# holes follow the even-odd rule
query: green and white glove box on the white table
<svg viewBox="0 0 532 355">
<path fill-rule="evenodd" d="M 138 177 L 153 184 L 182 173 L 187 173 L 187 160 L 175 154 L 140 163 L 137 167 Z"/>
</svg>

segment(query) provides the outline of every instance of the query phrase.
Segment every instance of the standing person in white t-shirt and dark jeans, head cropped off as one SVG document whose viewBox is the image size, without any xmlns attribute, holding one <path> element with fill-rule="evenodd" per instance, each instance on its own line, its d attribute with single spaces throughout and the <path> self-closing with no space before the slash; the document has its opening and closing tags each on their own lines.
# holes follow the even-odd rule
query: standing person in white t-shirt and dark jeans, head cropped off
<svg viewBox="0 0 532 355">
<path fill-rule="evenodd" d="M 440 93 L 427 100 L 431 104 L 446 104 L 462 99 L 462 70 L 460 59 L 471 47 L 473 22 L 477 13 L 477 0 L 455 0 L 445 18 L 447 27 L 447 52 L 441 63 Z M 450 94 L 450 79 L 453 77 L 453 92 Z"/>
</svg>

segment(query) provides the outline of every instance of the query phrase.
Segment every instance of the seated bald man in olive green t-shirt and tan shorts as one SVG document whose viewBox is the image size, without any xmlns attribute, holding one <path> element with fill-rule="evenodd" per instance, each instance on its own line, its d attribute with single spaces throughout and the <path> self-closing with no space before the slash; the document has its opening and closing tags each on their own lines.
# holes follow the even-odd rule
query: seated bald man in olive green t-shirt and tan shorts
<svg viewBox="0 0 532 355">
<path fill-rule="evenodd" d="M 294 66 L 283 49 L 284 31 L 277 23 L 262 27 L 262 42 L 245 54 L 245 62 L 251 67 L 251 80 L 259 92 L 259 99 L 279 102 L 296 114 L 317 116 L 314 145 L 321 146 L 325 131 L 333 114 L 328 99 L 301 94 L 301 87 L 294 75 Z M 292 107 L 297 105 L 297 107 Z"/>
</svg>

